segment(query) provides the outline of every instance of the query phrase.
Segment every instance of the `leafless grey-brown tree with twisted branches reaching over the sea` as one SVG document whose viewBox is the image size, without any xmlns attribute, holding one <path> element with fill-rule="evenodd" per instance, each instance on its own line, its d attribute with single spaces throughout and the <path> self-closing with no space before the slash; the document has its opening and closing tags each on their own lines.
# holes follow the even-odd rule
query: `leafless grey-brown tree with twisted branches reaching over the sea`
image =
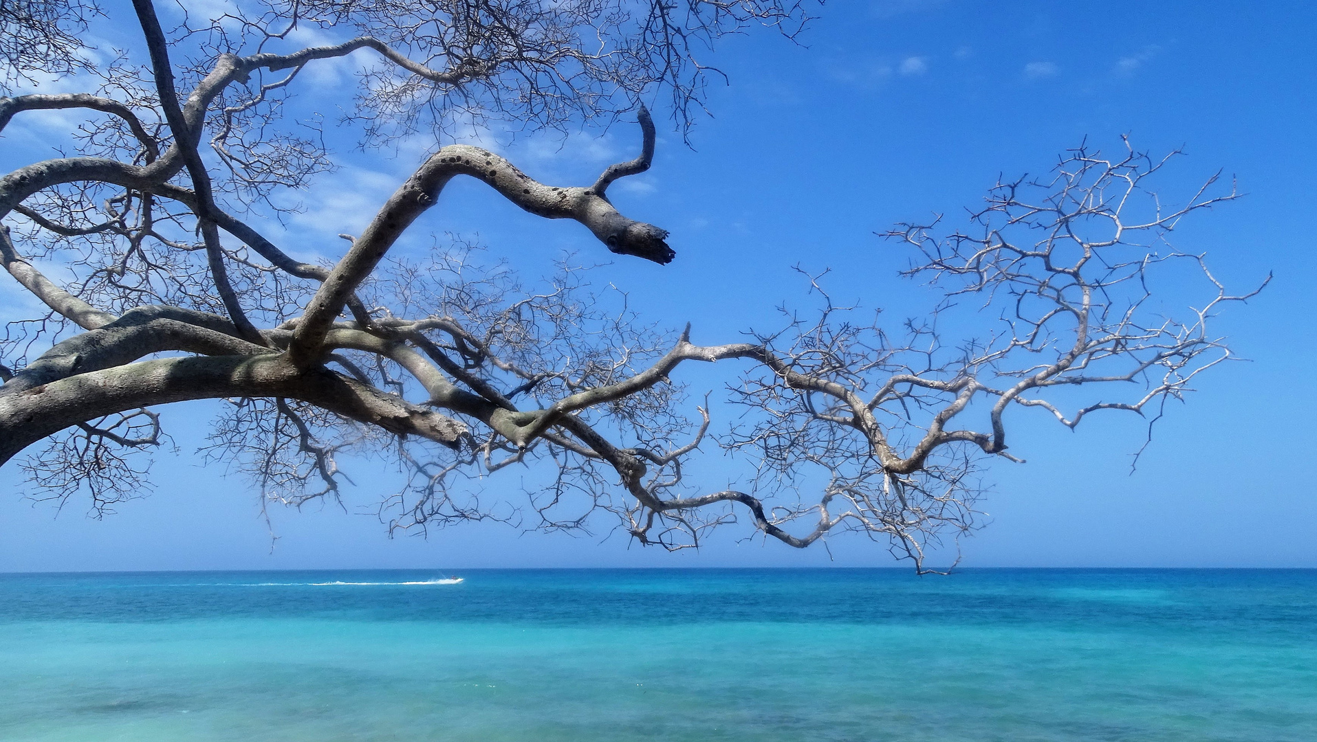
<svg viewBox="0 0 1317 742">
<path fill-rule="evenodd" d="M 998 183 L 959 230 L 888 233 L 917 254 L 907 275 L 946 297 L 892 329 L 836 304 L 815 275 L 817 314 L 784 309 L 777 332 L 695 345 L 689 325 L 668 333 L 624 296 L 593 292 L 570 262 L 523 285 L 461 241 L 420 263 L 389 255 L 449 180 L 469 176 L 532 214 L 579 222 L 614 254 L 670 262 L 668 233 L 607 196 L 651 164 L 640 100 L 666 91 L 689 125 L 716 74 L 701 55 L 752 25 L 793 37 L 807 14 L 792 0 L 271 0 L 167 32 L 150 0 L 134 8 L 142 64 L 82 46 L 95 7 L 3 7 L 7 84 L 90 91 L 0 99 L 0 129 L 29 111 L 88 114 L 76 154 L 0 178 L 0 260 L 42 308 L 0 342 L 0 463 L 45 439 L 18 463 L 38 496 L 88 492 L 99 510 L 140 492 L 165 439 L 155 408 L 221 399 L 207 455 L 250 475 L 263 501 L 337 497 L 342 454 L 375 453 L 408 474 L 379 505 L 391 528 L 585 529 L 611 514 L 641 543 L 684 549 L 748 517 L 752 533 L 795 547 L 860 532 L 923 571 L 930 546 L 975 528 L 984 462 L 1018 460 L 1011 410 L 1069 428 L 1098 410 L 1155 421 L 1230 358 L 1208 322 L 1247 296 L 1166 238 L 1234 189 L 1213 178 L 1166 207 L 1151 182 L 1167 161 L 1127 146 L 1115 158 L 1079 147 L 1046 176 Z M 324 43 L 299 47 L 307 36 Z M 248 214 L 278 214 L 281 193 L 325 180 L 317 132 L 283 113 L 303 68 L 352 54 L 377 61 L 345 114 L 363 146 L 439 141 L 462 121 L 562 126 L 635 111 L 640 155 L 566 187 L 443 146 L 365 232 L 338 235 L 341 258 L 299 262 Z M 1176 263 L 1206 292 L 1169 318 L 1152 289 Z M 988 326 L 944 339 L 940 326 L 964 324 L 971 305 Z M 690 360 L 738 363 L 727 401 L 740 413 L 720 434 L 709 397 L 690 405 L 673 380 Z M 711 445 L 753 476 L 687 482 L 684 467 Z M 520 505 L 464 484 L 512 464 L 541 472 Z"/>
</svg>

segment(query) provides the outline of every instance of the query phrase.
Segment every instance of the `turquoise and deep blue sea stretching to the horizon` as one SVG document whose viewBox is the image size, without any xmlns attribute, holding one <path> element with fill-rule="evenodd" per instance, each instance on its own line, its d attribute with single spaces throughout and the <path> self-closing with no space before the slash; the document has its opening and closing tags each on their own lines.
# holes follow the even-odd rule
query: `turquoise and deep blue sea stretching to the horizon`
<svg viewBox="0 0 1317 742">
<path fill-rule="evenodd" d="M 0 575 L 4 741 L 1317 741 L 1317 571 Z"/>
</svg>

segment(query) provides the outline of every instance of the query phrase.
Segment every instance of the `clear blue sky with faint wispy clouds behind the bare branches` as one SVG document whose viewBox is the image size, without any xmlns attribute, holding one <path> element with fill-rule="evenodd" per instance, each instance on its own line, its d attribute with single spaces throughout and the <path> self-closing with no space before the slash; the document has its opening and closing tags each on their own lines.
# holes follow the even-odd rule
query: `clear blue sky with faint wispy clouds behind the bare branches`
<svg viewBox="0 0 1317 742">
<path fill-rule="evenodd" d="M 832 4 L 801 46 L 756 34 L 722 49 L 716 62 L 731 84 L 711 89 L 714 117 L 699 122 L 691 147 L 661 129 L 652 171 L 611 192 L 628 214 L 670 229 L 678 259 L 615 262 L 595 282 L 624 288 L 648 318 L 691 321 L 697 342 L 770 326 L 784 301 L 807 307 L 795 264 L 831 267 L 834 295 L 903 317 L 927 293 L 894 276 L 905 254 L 874 230 L 959 213 L 998 174 L 1044 171 L 1085 137 L 1102 149 L 1119 146 L 1121 134 L 1155 153 L 1183 146 L 1187 157 L 1163 180 L 1168 193 L 1188 195 L 1223 168 L 1247 196 L 1185 222 L 1176 246 L 1206 251 L 1231 287 L 1276 275 L 1217 325 L 1251 360 L 1202 378 L 1133 475 L 1137 421 L 1094 417 L 1069 433 L 1021 418 L 1011 450 L 1029 463 L 993 466 L 992 522 L 964 542 L 964 563 L 1317 567 L 1314 30 L 1308 3 Z M 7 132 L 7 164 L 45 150 L 42 124 L 25 126 Z M 486 143 L 541 180 L 579 184 L 631 157 L 635 138 L 619 125 Z M 416 164 L 346 146 L 337 154 L 344 168 L 329 178 L 344 195 L 308 203 L 290 234 L 323 230 L 333 243 Z M 475 183 L 454 183 L 419 226 L 478 233 L 528 274 L 565 250 L 601 253 L 579 226 L 545 224 Z M 12 283 L 0 292 L 16 296 Z M 689 379 L 724 378 L 702 374 Z M 893 564 L 856 538 L 834 539 L 832 560 L 822 549 L 738 543 L 745 526 L 698 554 L 487 526 L 389 539 L 378 521 L 354 514 L 371 501 L 373 476 L 361 468 L 346 513 L 275 512 L 271 551 L 245 483 L 190 454 L 207 414 L 204 405 L 174 409 L 182 454 L 161 457 L 158 491 L 113 517 L 84 518 L 76 501 L 55 517 L 49 505 L 0 499 L 0 570 Z M 12 466 L 0 471 L 0 491 L 16 482 Z"/>
</svg>

